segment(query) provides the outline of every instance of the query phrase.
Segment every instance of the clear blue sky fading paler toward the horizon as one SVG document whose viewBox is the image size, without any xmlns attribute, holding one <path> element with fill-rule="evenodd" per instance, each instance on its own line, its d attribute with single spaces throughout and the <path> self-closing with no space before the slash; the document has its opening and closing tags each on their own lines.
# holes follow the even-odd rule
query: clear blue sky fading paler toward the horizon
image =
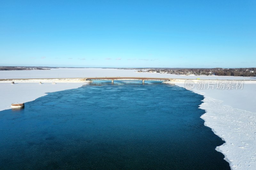
<svg viewBox="0 0 256 170">
<path fill-rule="evenodd" d="M 256 1 L 0 0 L 0 65 L 256 67 Z"/>
</svg>

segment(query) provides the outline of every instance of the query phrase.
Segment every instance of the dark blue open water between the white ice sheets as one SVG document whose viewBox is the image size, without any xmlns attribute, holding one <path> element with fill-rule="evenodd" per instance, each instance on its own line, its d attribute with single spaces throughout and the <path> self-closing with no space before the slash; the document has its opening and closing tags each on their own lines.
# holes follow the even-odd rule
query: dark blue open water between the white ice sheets
<svg viewBox="0 0 256 170">
<path fill-rule="evenodd" d="M 49 93 L 0 112 L 0 169 L 230 169 L 201 100 L 159 82 Z"/>
</svg>

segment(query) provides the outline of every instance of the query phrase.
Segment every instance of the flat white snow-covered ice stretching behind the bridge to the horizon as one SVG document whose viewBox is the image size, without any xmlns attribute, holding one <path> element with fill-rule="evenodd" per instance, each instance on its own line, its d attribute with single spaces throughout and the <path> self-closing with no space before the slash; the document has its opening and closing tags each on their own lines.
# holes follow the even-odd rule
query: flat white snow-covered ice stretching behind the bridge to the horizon
<svg viewBox="0 0 256 170">
<path fill-rule="evenodd" d="M 191 78 L 219 80 L 256 80 L 255 77 L 234 76 L 185 76 L 159 73 L 140 73 L 127 69 L 101 68 L 59 68 L 51 70 L 10 70 L 0 71 L 0 79 L 8 78 L 87 78 L 87 77 L 156 77 L 156 78 Z"/>
</svg>

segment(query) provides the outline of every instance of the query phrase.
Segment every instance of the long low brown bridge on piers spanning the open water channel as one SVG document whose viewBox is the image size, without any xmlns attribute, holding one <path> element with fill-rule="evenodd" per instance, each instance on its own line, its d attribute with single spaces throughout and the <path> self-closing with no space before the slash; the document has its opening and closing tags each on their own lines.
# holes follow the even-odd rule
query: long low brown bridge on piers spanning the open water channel
<svg viewBox="0 0 256 170">
<path fill-rule="evenodd" d="M 142 80 L 144 83 L 145 80 L 151 81 L 171 81 L 171 78 L 145 78 L 145 77 L 93 77 L 93 78 L 84 78 L 84 80 L 111 80 L 114 83 L 114 80 Z"/>
</svg>

